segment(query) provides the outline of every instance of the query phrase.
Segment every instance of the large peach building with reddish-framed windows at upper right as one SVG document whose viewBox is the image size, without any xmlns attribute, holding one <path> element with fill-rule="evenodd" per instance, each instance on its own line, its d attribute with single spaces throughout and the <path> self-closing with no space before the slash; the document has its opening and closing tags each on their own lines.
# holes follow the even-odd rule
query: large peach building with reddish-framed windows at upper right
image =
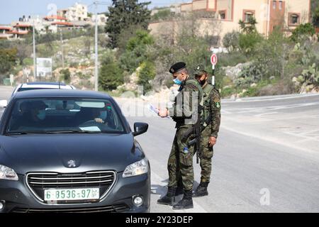
<svg viewBox="0 0 319 227">
<path fill-rule="evenodd" d="M 272 33 L 276 26 L 281 26 L 284 31 L 290 33 L 301 23 L 310 23 L 310 0 L 193 0 L 181 4 L 180 9 L 184 14 L 196 11 L 211 12 L 212 18 L 199 19 L 200 30 L 202 34 L 210 33 L 206 28 L 210 23 L 218 21 L 218 35 L 221 38 L 230 31 L 239 31 L 239 21 L 248 22 L 252 16 L 257 20 L 257 31 L 265 36 Z M 158 33 L 163 23 L 174 22 L 151 23 L 152 33 Z M 172 26 L 177 25 L 174 23 Z"/>
</svg>

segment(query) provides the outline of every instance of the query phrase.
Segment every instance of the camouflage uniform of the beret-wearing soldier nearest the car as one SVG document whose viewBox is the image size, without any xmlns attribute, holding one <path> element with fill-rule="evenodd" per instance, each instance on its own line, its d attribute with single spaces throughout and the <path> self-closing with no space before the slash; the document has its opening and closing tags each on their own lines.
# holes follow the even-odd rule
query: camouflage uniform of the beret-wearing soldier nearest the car
<svg viewBox="0 0 319 227">
<path fill-rule="evenodd" d="M 168 187 L 177 188 L 177 182 L 181 177 L 185 191 L 191 191 L 194 183 L 194 146 L 189 148 L 189 151 L 185 153 L 184 148 L 188 147 L 189 139 L 186 141 L 181 140 L 184 133 L 194 126 L 194 124 L 186 123 L 186 119 L 192 118 L 194 111 L 198 113 L 198 105 L 194 106 L 196 110 L 192 109 L 192 99 L 194 95 L 192 92 L 196 92 L 198 104 L 201 104 L 203 93 L 200 84 L 198 84 L 195 79 L 186 79 L 184 85 L 181 86 L 172 109 L 169 109 L 170 115 L 176 122 L 177 132 L 167 164 L 169 172 Z M 183 104 L 180 106 L 177 105 L 177 100 L 183 100 Z M 198 117 L 200 116 L 198 115 Z"/>
</svg>

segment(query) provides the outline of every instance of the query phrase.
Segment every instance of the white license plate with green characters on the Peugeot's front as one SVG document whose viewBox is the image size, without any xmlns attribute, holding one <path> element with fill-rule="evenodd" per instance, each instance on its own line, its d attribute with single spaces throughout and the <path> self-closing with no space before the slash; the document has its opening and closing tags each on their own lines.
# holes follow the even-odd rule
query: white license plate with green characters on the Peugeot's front
<svg viewBox="0 0 319 227">
<path fill-rule="evenodd" d="M 100 189 L 48 189 L 45 201 L 91 200 L 100 198 Z"/>
</svg>

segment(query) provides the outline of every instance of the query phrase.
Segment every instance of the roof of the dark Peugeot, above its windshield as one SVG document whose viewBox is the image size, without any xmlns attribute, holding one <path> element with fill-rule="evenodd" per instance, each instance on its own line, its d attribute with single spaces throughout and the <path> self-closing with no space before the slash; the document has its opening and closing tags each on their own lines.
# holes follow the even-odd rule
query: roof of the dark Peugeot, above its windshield
<svg viewBox="0 0 319 227">
<path fill-rule="evenodd" d="M 68 89 L 41 89 L 17 92 L 13 99 L 34 98 L 84 98 L 84 99 L 112 99 L 106 93 Z"/>
</svg>

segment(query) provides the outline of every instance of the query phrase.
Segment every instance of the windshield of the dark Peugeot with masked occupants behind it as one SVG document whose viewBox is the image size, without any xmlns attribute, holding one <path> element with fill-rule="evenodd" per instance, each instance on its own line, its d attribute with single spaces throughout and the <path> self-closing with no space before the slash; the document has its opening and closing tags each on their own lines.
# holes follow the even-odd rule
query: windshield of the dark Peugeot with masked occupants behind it
<svg viewBox="0 0 319 227">
<path fill-rule="evenodd" d="M 111 101 L 101 99 L 20 99 L 6 134 L 124 133 Z"/>
</svg>

